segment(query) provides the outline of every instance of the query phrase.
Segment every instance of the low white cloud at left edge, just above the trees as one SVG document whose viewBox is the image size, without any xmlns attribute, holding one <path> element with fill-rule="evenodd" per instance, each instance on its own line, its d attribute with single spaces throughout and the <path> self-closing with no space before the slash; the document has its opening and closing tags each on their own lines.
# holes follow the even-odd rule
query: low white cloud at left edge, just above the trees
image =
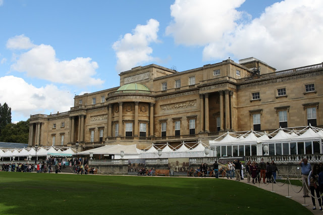
<svg viewBox="0 0 323 215">
<path fill-rule="evenodd" d="M 52 84 L 36 88 L 22 78 L 4 76 L 0 77 L 0 86 L 0 102 L 7 102 L 12 112 L 25 118 L 47 111 L 66 112 L 74 105 L 73 93 Z"/>
</svg>

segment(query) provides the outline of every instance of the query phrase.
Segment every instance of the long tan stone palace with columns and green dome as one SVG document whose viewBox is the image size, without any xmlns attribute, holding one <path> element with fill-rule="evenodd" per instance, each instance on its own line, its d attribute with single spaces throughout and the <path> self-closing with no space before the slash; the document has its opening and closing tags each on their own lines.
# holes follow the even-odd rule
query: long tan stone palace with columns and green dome
<svg viewBox="0 0 323 215">
<path fill-rule="evenodd" d="M 67 112 L 30 117 L 29 146 L 178 145 L 226 132 L 322 128 L 323 63 L 276 71 L 255 58 L 183 72 L 155 64 L 120 86 L 74 97 Z"/>
</svg>

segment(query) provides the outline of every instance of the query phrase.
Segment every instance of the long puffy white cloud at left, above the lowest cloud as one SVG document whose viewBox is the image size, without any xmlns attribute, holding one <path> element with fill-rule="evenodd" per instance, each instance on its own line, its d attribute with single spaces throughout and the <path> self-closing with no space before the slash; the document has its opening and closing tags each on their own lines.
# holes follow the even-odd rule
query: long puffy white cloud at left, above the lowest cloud
<svg viewBox="0 0 323 215">
<path fill-rule="evenodd" d="M 17 45 L 17 47 L 21 46 Z M 93 78 L 97 68 L 97 63 L 93 62 L 91 58 L 59 61 L 53 47 L 44 44 L 35 45 L 29 51 L 22 53 L 11 66 L 12 70 L 26 72 L 30 77 L 78 86 L 103 84 L 104 81 L 101 79 Z"/>
</svg>

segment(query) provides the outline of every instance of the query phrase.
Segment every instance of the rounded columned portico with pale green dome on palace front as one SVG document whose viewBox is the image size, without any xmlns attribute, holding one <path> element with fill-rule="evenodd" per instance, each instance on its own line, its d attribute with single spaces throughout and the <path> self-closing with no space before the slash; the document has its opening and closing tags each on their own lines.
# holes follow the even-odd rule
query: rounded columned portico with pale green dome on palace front
<svg viewBox="0 0 323 215">
<path fill-rule="evenodd" d="M 137 83 L 123 85 L 109 93 L 106 101 L 109 110 L 107 143 L 118 137 L 147 140 L 153 135 L 155 98 L 147 86 Z"/>
</svg>

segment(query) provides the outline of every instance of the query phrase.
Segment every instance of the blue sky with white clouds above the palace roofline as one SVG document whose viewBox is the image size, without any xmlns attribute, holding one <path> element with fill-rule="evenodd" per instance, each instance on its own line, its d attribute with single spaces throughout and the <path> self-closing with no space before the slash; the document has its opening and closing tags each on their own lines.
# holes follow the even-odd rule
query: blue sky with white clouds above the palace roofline
<svg viewBox="0 0 323 215">
<path fill-rule="evenodd" d="M 0 103 L 19 122 L 67 112 L 75 95 L 117 87 L 137 66 L 319 64 L 321 9 L 321 0 L 0 0 Z"/>
</svg>

